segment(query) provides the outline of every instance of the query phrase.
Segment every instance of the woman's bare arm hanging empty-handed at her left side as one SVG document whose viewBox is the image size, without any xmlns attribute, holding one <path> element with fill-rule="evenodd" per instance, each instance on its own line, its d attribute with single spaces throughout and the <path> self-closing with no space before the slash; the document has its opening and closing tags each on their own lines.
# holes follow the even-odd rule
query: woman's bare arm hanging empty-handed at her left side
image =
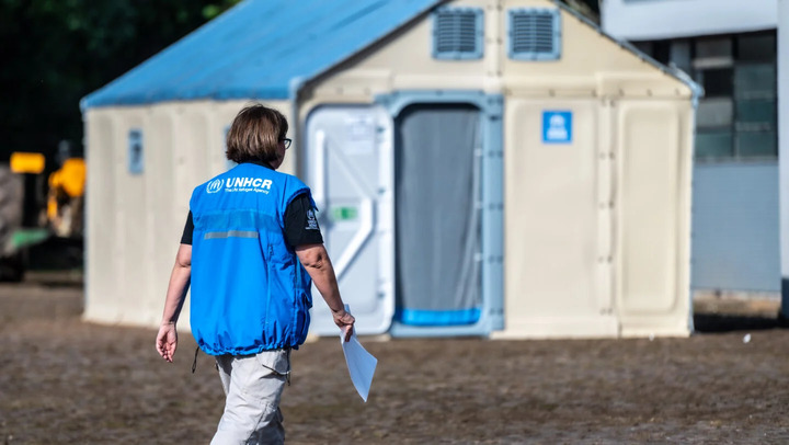
<svg viewBox="0 0 789 445">
<path fill-rule="evenodd" d="M 159 326 L 157 334 L 156 347 L 168 362 L 172 363 L 175 349 L 178 349 L 178 330 L 175 323 L 181 315 L 186 290 L 188 290 L 192 281 L 192 246 L 181 244 L 175 255 L 175 264 L 170 274 L 170 285 L 168 286 L 167 297 L 164 299 L 164 313 Z"/>
</svg>

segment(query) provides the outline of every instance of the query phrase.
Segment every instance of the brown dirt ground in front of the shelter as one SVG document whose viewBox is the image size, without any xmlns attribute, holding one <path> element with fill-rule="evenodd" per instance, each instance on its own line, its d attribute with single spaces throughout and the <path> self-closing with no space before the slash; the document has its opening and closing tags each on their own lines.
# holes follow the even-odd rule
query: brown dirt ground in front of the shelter
<svg viewBox="0 0 789 445">
<path fill-rule="evenodd" d="M 205 354 L 191 374 L 191 335 L 165 364 L 153 330 L 84 323 L 81 311 L 79 277 L 0 284 L 0 442 L 208 443 L 222 392 Z M 367 403 L 339 341 L 309 343 L 283 398 L 288 443 L 789 443 L 789 330 L 706 317 L 705 328 L 727 332 L 363 339 L 379 360 Z"/>
</svg>

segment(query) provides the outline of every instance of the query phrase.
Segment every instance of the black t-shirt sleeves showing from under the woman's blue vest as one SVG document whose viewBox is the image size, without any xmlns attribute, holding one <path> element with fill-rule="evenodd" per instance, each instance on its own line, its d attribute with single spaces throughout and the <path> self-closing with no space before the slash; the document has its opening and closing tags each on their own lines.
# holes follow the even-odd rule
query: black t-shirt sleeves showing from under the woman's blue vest
<svg viewBox="0 0 789 445">
<path fill-rule="evenodd" d="M 192 221 L 192 212 L 190 212 L 184 232 L 181 236 L 182 244 L 192 246 L 193 231 L 194 222 Z M 323 243 L 318 219 L 316 219 L 315 209 L 307 193 L 296 196 L 285 209 L 285 240 L 294 248 Z"/>
</svg>

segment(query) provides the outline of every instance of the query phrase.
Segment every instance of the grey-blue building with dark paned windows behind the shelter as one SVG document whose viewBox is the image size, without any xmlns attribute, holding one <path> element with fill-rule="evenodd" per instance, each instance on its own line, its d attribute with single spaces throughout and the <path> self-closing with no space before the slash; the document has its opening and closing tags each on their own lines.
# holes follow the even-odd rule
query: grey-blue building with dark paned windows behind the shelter
<svg viewBox="0 0 789 445">
<path fill-rule="evenodd" d="M 705 89 L 696 115 L 693 289 L 777 297 L 778 1 L 606 0 L 601 12 L 606 32 Z"/>
</svg>

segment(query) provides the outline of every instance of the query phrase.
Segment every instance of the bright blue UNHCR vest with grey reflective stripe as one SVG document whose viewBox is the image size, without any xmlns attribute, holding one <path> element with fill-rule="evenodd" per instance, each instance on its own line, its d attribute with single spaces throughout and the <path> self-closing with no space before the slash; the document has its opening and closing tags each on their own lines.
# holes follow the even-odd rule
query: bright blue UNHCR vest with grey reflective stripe
<svg viewBox="0 0 789 445">
<path fill-rule="evenodd" d="M 191 323 L 205 353 L 304 343 L 311 281 L 283 228 L 285 208 L 305 192 L 296 176 L 242 163 L 192 193 Z"/>
</svg>

